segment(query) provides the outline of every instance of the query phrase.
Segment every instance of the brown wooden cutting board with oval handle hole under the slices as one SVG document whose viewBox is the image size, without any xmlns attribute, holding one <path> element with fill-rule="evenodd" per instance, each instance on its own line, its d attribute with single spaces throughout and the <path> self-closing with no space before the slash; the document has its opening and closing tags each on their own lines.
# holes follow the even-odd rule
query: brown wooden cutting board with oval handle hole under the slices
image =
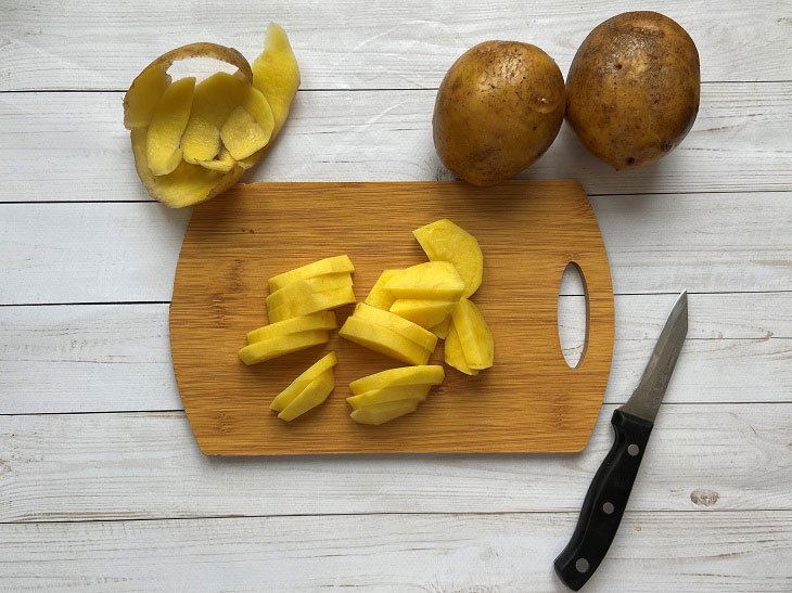
<svg viewBox="0 0 792 593">
<path fill-rule="evenodd" d="M 449 218 L 478 240 L 484 281 L 473 300 L 495 337 L 495 366 L 446 381 L 417 412 L 382 426 L 350 417 L 348 384 L 401 366 L 338 338 L 245 366 L 247 331 L 267 322 L 267 279 L 348 254 L 355 294 L 366 298 L 385 268 L 426 258 L 411 231 Z M 588 339 L 570 369 L 557 325 L 561 275 L 579 266 Z M 352 306 L 336 311 L 338 324 Z M 197 206 L 184 235 L 170 306 L 170 346 L 181 399 L 201 450 L 210 455 L 376 452 L 571 452 L 588 441 L 613 348 L 608 257 L 588 198 L 575 181 L 512 181 L 477 189 L 456 182 L 254 183 Z M 292 423 L 272 398 L 330 350 L 335 390 Z M 438 340 L 432 362 L 443 363 Z"/>
</svg>

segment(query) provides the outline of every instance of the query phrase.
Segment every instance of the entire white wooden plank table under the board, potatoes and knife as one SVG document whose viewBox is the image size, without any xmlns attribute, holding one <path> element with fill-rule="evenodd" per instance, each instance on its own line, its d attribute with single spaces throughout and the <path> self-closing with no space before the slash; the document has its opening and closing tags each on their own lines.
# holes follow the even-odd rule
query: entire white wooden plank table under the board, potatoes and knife
<svg viewBox="0 0 792 593">
<path fill-rule="evenodd" d="M 255 4 L 255 5 L 254 5 Z M 608 246 L 616 343 L 577 455 L 209 459 L 181 411 L 168 302 L 189 210 L 135 175 L 122 96 L 154 56 L 252 59 L 269 20 L 301 63 L 251 181 L 449 173 L 436 88 L 491 38 L 565 74 L 588 30 L 656 2 L 0 4 L 0 590 L 560 591 L 552 559 L 674 295 L 690 333 L 622 528 L 587 591 L 792 591 L 792 4 L 672 0 L 699 118 L 619 172 L 564 127 L 523 177 L 579 179 Z M 574 283 L 560 298 L 579 330 Z M 574 350 L 574 348 L 572 348 Z"/>
</svg>

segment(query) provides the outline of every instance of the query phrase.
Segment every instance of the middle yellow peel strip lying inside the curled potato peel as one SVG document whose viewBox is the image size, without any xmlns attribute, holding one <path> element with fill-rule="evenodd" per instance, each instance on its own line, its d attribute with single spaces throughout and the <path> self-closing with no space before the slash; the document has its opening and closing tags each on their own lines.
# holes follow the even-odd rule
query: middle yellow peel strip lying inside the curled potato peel
<svg viewBox="0 0 792 593">
<path fill-rule="evenodd" d="M 199 164 L 220 153 L 220 128 L 242 104 L 248 89 L 242 80 L 225 72 L 213 74 L 195 87 L 190 120 L 181 138 L 184 160 Z"/>
</svg>

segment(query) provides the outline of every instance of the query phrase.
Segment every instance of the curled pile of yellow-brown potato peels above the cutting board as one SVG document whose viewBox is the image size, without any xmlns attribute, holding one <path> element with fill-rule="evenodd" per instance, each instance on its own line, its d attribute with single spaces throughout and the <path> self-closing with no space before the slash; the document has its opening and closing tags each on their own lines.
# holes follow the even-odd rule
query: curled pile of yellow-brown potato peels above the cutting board
<svg viewBox="0 0 792 593">
<path fill-rule="evenodd" d="M 238 69 L 217 73 L 190 93 L 171 85 L 174 62 L 210 57 Z M 286 77 L 286 78 L 284 78 Z M 169 89 L 181 83 L 181 99 Z M 271 145 L 299 86 L 299 69 L 285 31 L 270 24 L 252 68 L 235 49 L 190 43 L 149 64 L 124 98 L 135 165 L 149 194 L 171 208 L 210 199 L 231 188 Z M 178 104 L 181 114 L 173 113 Z M 166 113 L 167 112 L 167 113 Z M 150 142 L 152 143 L 150 145 Z"/>
</svg>

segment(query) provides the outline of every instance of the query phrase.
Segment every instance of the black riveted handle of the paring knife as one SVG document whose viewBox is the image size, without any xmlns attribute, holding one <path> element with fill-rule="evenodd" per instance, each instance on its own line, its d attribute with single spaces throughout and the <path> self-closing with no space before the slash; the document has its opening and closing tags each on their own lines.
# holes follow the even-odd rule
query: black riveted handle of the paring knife
<svg viewBox="0 0 792 593">
<path fill-rule="evenodd" d="M 621 410 L 613 412 L 611 424 L 616 440 L 588 487 L 570 543 L 553 563 L 573 591 L 591 578 L 616 536 L 653 426 Z"/>
</svg>

